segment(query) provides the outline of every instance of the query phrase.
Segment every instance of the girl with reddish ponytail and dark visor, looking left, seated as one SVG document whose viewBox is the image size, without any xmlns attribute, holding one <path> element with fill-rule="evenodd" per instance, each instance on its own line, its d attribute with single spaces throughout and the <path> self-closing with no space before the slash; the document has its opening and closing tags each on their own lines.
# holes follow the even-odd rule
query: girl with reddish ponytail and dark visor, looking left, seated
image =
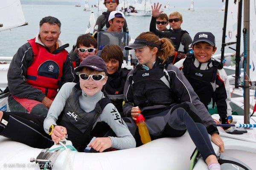
<svg viewBox="0 0 256 170">
<path fill-rule="evenodd" d="M 209 170 L 220 169 L 211 140 L 224 150 L 218 129 L 192 86 L 178 68 L 169 64 L 175 48 L 167 38 L 143 32 L 125 50 L 135 50 L 139 65 L 125 82 L 124 116 L 137 146 L 141 144 L 134 122 L 139 113 L 146 119 L 151 139 L 182 136 L 188 130 Z M 127 119 L 125 119 L 127 120 Z"/>
</svg>

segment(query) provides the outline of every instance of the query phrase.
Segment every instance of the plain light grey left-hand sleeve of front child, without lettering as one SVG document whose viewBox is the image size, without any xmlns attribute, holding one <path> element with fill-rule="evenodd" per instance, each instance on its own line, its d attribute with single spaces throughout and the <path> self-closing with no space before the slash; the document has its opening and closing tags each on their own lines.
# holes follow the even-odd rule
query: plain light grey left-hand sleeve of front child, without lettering
<svg viewBox="0 0 256 170">
<path fill-rule="evenodd" d="M 70 93 L 72 92 L 73 87 L 76 85 L 74 82 L 65 83 L 55 99 L 52 102 L 51 107 L 49 108 L 48 114 L 44 119 L 44 131 L 46 133 L 49 132 L 50 125 L 56 125 L 56 121 L 58 120 L 58 116 L 61 114 Z"/>
</svg>

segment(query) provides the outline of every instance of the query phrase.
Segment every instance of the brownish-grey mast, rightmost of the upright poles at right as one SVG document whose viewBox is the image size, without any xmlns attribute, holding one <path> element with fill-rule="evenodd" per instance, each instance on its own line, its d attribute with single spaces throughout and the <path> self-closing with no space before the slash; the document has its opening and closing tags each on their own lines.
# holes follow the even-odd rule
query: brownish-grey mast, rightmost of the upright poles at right
<svg viewBox="0 0 256 170">
<path fill-rule="evenodd" d="M 250 89 L 249 89 L 249 64 L 250 64 L 250 0 L 244 0 L 244 29 L 245 36 L 245 75 L 244 75 L 244 123 L 250 123 Z"/>
</svg>

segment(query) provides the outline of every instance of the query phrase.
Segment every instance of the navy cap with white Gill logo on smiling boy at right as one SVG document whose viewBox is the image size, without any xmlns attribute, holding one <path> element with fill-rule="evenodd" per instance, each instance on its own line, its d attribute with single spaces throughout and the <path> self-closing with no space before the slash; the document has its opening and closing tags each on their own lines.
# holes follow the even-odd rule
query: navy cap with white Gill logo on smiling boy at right
<svg viewBox="0 0 256 170">
<path fill-rule="evenodd" d="M 211 32 L 198 32 L 195 34 L 192 45 L 201 41 L 208 42 L 210 45 L 215 46 L 215 37 Z"/>
</svg>

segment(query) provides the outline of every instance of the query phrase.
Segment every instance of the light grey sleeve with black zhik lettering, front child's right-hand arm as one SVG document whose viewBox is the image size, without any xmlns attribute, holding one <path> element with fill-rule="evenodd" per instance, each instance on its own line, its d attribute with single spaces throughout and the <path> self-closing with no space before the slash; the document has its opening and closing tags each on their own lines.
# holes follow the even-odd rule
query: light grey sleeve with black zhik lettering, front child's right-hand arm
<svg viewBox="0 0 256 170">
<path fill-rule="evenodd" d="M 117 137 L 108 136 L 111 139 L 112 146 L 116 149 L 128 149 L 136 147 L 134 137 L 131 135 L 127 125 L 121 118 L 116 107 L 109 103 L 103 109 L 100 117 L 96 122 L 106 122 L 111 129 L 116 133 Z M 96 125 L 96 124 L 95 124 Z"/>
</svg>

